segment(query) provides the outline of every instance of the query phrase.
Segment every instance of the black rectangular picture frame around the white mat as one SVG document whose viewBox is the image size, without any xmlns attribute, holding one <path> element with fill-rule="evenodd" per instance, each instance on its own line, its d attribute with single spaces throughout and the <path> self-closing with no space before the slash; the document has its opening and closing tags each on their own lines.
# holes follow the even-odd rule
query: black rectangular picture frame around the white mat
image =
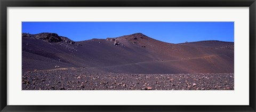
<svg viewBox="0 0 256 112">
<path fill-rule="evenodd" d="M 255 0 L 0 0 L 1 111 L 255 111 Z M 7 7 L 250 7 L 249 106 L 9 106 L 7 103 Z M 239 96 L 237 96 L 239 97 Z"/>
</svg>

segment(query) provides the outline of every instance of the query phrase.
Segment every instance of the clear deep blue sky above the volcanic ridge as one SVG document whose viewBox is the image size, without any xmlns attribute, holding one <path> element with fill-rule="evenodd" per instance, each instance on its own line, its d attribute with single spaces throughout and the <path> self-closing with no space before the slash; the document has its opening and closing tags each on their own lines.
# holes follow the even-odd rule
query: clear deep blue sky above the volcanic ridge
<svg viewBox="0 0 256 112">
<path fill-rule="evenodd" d="M 22 33 L 57 33 L 73 41 L 142 33 L 168 43 L 234 42 L 234 22 L 22 22 Z"/>
</svg>

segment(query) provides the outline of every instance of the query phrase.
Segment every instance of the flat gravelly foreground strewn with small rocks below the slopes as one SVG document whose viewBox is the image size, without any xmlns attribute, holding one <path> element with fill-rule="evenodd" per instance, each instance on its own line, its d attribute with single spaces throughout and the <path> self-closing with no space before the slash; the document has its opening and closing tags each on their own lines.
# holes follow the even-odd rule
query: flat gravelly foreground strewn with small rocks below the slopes
<svg viewBox="0 0 256 112">
<path fill-rule="evenodd" d="M 234 90 L 234 73 L 122 74 L 92 68 L 22 73 L 22 90 Z"/>
</svg>

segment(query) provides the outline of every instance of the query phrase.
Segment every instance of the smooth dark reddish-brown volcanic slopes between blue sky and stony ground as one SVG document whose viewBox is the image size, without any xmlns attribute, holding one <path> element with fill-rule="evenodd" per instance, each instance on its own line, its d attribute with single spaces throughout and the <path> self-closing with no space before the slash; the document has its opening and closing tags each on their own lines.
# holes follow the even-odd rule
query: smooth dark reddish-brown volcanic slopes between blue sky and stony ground
<svg viewBox="0 0 256 112">
<path fill-rule="evenodd" d="M 74 42 L 54 33 L 22 34 L 22 71 L 95 68 L 112 73 L 234 73 L 234 43 L 171 44 L 141 33 Z"/>
</svg>

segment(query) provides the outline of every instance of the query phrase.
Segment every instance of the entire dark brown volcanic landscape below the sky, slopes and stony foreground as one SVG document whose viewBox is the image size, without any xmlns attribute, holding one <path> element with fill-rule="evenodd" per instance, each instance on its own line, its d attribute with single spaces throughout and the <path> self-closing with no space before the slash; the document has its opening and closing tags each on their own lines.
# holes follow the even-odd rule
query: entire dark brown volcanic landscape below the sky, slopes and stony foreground
<svg viewBox="0 0 256 112">
<path fill-rule="evenodd" d="M 234 90 L 234 43 L 23 33 L 22 90 Z"/>
</svg>

